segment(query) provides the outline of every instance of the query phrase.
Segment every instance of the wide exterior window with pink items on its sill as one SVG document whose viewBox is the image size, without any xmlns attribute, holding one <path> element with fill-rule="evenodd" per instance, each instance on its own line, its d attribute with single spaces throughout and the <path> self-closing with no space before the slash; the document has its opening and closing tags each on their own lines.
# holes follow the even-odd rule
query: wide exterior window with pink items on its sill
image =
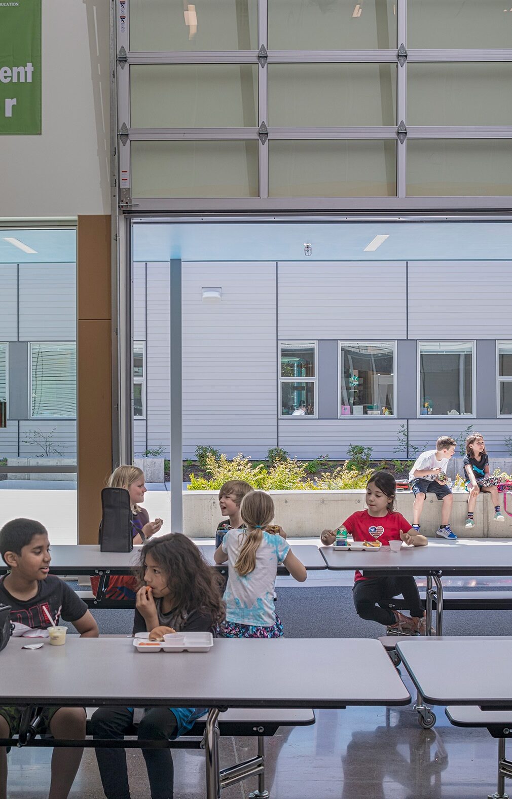
<svg viewBox="0 0 512 799">
<path fill-rule="evenodd" d="M 339 415 L 395 416 L 395 344 L 339 342 Z"/>
</svg>

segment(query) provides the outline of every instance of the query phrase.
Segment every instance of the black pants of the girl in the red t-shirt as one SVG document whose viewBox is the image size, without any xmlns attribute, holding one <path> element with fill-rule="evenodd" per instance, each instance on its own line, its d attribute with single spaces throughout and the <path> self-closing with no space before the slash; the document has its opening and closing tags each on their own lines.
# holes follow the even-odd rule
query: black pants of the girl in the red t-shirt
<svg viewBox="0 0 512 799">
<path fill-rule="evenodd" d="M 387 605 L 399 594 L 407 602 L 411 616 L 422 618 L 423 606 L 414 577 L 371 577 L 358 580 L 352 589 L 355 612 L 361 618 L 379 624 L 395 624 L 395 614 Z"/>
</svg>

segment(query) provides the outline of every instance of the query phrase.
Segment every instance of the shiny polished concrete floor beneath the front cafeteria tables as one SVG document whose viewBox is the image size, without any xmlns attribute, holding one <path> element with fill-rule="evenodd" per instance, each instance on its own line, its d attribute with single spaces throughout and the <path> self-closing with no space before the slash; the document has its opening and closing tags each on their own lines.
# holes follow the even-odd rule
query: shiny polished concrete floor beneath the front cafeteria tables
<svg viewBox="0 0 512 799">
<path fill-rule="evenodd" d="M 313 726 L 281 728 L 267 744 L 272 799 L 485 799 L 496 789 L 497 741 L 486 730 L 452 727 L 441 708 L 436 714 L 431 730 L 420 729 L 411 706 L 322 710 Z M 221 766 L 255 753 L 252 739 L 221 739 Z M 48 749 L 10 753 L 9 799 L 47 796 L 50 754 Z M 204 797 L 203 753 L 176 750 L 173 757 L 175 799 Z M 141 753 L 129 750 L 128 762 L 132 799 L 149 799 Z M 256 779 L 246 781 L 226 789 L 222 797 L 246 799 L 256 787 Z M 91 749 L 70 796 L 103 797 Z"/>
</svg>

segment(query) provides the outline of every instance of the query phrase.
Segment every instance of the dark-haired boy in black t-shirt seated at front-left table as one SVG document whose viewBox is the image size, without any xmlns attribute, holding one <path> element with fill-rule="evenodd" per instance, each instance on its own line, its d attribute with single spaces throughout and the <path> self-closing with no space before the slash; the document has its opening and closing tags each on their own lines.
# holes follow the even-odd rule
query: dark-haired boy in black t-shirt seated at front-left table
<svg viewBox="0 0 512 799">
<path fill-rule="evenodd" d="M 13 519 L 0 530 L 0 555 L 9 574 L 0 578 L 0 604 L 10 605 L 14 636 L 47 638 L 50 620 L 73 622 L 82 638 L 97 638 L 97 623 L 85 602 L 58 577 L 49 575 L 50 542 L 46 528 L 33 519 Z M 45 610 L 43 610 L 43 608 Z M 0 706 L 0 738 L 18 733 L 22 708 Z M 85 738 L 85 710 L 45 707 L 39 733 L 56 738 Z M 66 799 L 83 749 L 54 749 L 50 799 Z M 7 757 L 0 747 L 0 799 L 7 797 Z"/>
</svg>

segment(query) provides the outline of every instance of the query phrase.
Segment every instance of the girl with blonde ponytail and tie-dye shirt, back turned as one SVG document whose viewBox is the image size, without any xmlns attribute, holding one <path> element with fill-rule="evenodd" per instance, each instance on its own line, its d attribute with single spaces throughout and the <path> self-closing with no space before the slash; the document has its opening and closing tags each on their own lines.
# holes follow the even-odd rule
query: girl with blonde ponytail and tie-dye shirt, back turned
<svg viewBox="0 0 512 799">
<path fill-rule="evenodd" d="M 216 549 L 216 563 L 228 561 L 224 591 L 223 638 L 280 638 L 283 625 L 274 606 L 274 586 L 281 563 L 298 582 L 308 576 L 290 545 L 272 527 L 274 503 L 264 491 L 251 491 L 240 505 L 245 528 L 228 530 Z"/>
</svg>

